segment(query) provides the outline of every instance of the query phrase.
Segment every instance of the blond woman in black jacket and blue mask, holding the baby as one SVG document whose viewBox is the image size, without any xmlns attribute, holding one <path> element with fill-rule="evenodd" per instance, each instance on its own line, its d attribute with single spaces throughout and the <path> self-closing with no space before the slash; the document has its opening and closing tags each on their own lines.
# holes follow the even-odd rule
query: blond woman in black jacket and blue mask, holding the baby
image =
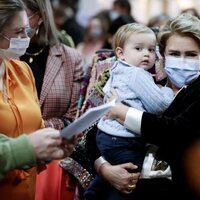
<svg viewBox="0 0 200 200">
<path fill-rule="evenodd" d="M 169 108 L 161 115 L 154 115 L 119 103 L 107 116 L 160 148 L 161 157 L 172 170 L 173 198 L 199 199 L 200 20 L 189 14 L 180 15 L 163 27 L 158 40 L 168 78 L 179 88 Z M 99 173 L 118 190 L 125 192 L 131 179 L 137 182 L 137 177 L 131 178 L 134 173 L 127 173 L 126 169 L 133 167 L 131 164 L 125 169 L 100 160 L 96 162 Z M 115 176 L 118 173 L 124 178 L 120 180 Z M 138 181 L 135 191 L 147 190 L 154 180 L 149 181 L 143 190 L 141 181 Z M 148 199 L 156 199 L 155 194 L 162 184 L 156 189 L 151 188 Z M 163 192 L 167 195 L 165 190 Z M 140 192 L 140 197 L 144 194 Z"/>
</svg>

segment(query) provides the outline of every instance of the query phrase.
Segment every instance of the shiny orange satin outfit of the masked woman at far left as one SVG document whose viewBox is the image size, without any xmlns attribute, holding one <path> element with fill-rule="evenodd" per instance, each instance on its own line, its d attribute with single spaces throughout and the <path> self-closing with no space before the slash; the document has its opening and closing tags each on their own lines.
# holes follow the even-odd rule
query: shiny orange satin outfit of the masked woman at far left
<svg viewBox="0 0 200 200">
<path fill-rule="evenodd" d="M 17 137 L 44 127 L 31 69 L 18 60 L 4 64 L 7 92 L 0 91 L 0 133 Z M 0 199 L 33 200 L 35 178 L 35 168 L 11 171 L 0 181 Z"/>
</svg>

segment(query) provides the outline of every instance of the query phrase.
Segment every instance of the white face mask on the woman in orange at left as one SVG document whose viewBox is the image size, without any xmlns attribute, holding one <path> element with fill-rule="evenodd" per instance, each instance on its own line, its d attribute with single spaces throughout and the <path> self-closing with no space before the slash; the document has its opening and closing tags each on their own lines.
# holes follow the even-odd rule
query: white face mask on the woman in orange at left
<svg viewBox="0 0 200 200">
<path fill-rule="evenodd" d="M 10 38 L 4 36 L 5 39 L 10 41 L 8 49 L 0 49 L 0 57 L 2 59 L 18 59 L 24 55 L 29 46 L 30 38 Z"/>
</svg>

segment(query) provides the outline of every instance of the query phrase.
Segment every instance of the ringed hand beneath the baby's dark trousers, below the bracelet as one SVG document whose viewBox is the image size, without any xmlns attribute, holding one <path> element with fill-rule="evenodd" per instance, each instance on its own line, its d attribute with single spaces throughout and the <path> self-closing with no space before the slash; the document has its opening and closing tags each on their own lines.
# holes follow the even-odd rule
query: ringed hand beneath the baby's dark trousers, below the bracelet
<svg viewBox="0 0 200 200">
<path fill-rule="evenodd" d="M 134 169 L 137 169 L 137 166 L 132 163 L 113 166 L 109 163 L 104 163 L 100 167 L 99 173 L 117 190 L 129 194 L 136 187 L 136 183 L 140 176 L 140 173 L 129 172 Z"/>
</svg>

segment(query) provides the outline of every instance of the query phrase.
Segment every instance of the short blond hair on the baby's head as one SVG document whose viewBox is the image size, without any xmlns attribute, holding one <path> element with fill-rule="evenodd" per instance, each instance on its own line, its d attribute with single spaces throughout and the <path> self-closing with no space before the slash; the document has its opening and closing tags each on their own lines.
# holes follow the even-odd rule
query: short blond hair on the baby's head
<svg viewBox="0 0 200 200">
<path fill-rule="evenodd" d="M 114 35 L 113 38 L 113 49 L 117 47 L 123 48 L 129 37 L 135 33 L 152 33 L 154 32 L 144 24 L 140 23 L 130 23 L 121 26 Z"/>
</svg>

